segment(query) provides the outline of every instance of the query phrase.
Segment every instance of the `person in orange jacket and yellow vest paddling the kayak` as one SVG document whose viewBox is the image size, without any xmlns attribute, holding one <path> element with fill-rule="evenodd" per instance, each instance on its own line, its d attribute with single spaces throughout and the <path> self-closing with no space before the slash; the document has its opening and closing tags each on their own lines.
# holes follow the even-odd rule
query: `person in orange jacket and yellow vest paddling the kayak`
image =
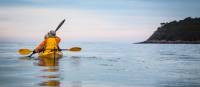
<svg viewBox="0 0 200 87">
<path fill-rule="evenodd" d="M 45 35 L 44 41 L 42 41 L 33 51 L 29 57 L 35 53 L 40 52 L 51 52 L 51 51 L 60 51 L 59 43 L 61 39 L 56 36 L 56 32 L 51 30 L 48 34 Z"/>
</svg>

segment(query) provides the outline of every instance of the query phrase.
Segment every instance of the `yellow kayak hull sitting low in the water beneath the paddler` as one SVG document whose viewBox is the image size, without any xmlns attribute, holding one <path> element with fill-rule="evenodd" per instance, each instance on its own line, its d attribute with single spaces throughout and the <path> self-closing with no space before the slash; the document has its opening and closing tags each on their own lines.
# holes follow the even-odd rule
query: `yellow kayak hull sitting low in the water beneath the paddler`
<svg viewBox="0 0 200 87">
<path fill-rule="evenodd" d="M 48 58 L 48 59 L 58 59 L 61 58 L 63 56 L 63 53 L 60 51 L 57 52 L 41 52 L 39 53 L 39 58 Z"/>
</svg>

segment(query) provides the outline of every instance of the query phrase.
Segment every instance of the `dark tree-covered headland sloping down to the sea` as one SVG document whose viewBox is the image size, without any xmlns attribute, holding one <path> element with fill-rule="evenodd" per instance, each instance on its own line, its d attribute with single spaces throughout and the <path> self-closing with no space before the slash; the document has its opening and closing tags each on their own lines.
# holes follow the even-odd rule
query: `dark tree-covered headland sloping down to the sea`
<svg viewBox="0 0 200 87">
<path fill-rule="evenodd" d="M 161 26 L 144 42 L 166 44 L 200 44 L 200 18 L 160 23 Z"/>
</svg>

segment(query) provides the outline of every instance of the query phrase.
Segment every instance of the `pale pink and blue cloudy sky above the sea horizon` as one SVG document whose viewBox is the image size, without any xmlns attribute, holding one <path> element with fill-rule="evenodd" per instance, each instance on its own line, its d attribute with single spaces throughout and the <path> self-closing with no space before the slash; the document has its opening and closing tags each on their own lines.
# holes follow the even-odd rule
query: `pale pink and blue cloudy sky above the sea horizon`
<svg viewBox="0 0 200 87">
<path fill-rule="evenodd" d="M 140 42 L 162 22 L 200 16 L 200 0 L 0 0 L 1 41 Z"/>
</svg>

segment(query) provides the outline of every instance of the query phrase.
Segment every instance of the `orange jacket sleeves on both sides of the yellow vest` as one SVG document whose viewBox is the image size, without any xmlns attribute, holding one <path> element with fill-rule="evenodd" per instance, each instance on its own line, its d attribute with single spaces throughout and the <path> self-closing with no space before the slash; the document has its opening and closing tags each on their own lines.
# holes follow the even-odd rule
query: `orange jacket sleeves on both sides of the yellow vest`
<svg viewBox="0 0 200 87">
<path fill-rule="evenodd" d="M 39 53 L 39 52 L 41 52 L 41 51 L 43 51 L 45 48 L 45 45 L 46 45 L 46 42 L 47 42 L 47 39 L 48 38 L 46 38 L 44 41 L 42 41 L 36 48 L 35 48 L 35 51 L 37 52 L 37 53 Z M 59 44 L 60 43 L 60 41 L 61 41 L 61 39 L 59 38 L 59 37 L 55 37 L 55 40 L 56 40 L 56 43 L 57 44 Z"/>
</svg>

